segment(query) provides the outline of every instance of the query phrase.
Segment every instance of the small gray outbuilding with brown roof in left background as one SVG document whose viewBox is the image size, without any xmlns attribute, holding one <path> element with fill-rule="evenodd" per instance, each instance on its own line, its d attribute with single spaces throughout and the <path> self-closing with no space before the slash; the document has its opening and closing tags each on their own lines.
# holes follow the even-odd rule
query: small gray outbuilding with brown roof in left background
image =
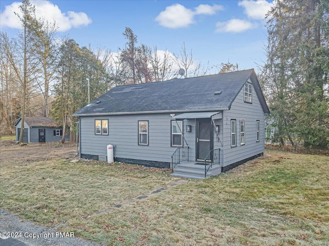
<svg viewBox="0 0 329 246">
<path fill-rule="evenodd" d="M 16 141 L 19 140 L 22 129 L 22 118 L 16 123 Z M 23 142 L 56 142 L 60 141 L 63 136 L 63 127 L 58 126 L 57 122 L 47 117 L 25 117 Z M 66 134 L 65 140 L 69 141 L 69 133 Z"/>
</svg>

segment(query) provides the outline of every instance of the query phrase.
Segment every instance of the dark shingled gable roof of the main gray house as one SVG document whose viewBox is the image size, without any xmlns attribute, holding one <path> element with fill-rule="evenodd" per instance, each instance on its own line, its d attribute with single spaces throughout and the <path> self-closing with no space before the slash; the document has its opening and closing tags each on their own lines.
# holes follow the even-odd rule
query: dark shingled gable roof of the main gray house
<svg viewBox="0 0 329 246">
<path fill-rule="evenodd" d="M 116 86 L 74 113 L 74 116 L 229 109 L 251 79 L 264 113 L 269 113 L 253 69 Z M 221 91 L 221 92 L 220 92 Z"/>
</svg>

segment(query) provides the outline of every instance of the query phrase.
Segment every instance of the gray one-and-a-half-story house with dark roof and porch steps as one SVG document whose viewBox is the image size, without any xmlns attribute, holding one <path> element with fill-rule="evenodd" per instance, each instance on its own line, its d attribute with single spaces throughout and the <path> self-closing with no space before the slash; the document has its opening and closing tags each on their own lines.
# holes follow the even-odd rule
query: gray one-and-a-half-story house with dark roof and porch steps
<svg viewBox="0 0 329 246">
<path fill-rule="evenodd" d="M 253 69 L 116 86 L 74 113 L 80 157 L 220 174 L 264 152 L 269 110 Z"/>
</svg>

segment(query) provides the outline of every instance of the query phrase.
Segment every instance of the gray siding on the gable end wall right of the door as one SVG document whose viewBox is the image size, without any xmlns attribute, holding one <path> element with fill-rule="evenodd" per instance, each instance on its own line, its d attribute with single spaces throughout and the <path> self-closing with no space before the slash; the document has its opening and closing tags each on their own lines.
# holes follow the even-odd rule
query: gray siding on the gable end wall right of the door
<svg viewBox="0 0 329 246">
<path fill-rule="evenodd" d="M 236 120 L 236 147 L 231 147 L 231 120 Z M 245 120 L 245 145 L 240 144 L 240 120 Z M 260 121 L 260 141 L 256 142 L 256 121 Z M 252 87 L 252 104 L 244 102 L 244 88 L 231 109 L 223 112 L 223 166 L 264 152 L 264 112 Z"/>
</svg>

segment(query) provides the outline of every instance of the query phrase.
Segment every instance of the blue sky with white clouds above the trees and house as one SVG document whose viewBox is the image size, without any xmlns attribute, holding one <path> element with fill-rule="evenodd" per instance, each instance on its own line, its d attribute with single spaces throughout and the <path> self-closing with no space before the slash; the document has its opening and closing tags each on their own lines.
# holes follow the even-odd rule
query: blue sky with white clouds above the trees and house
<svg viewBox="0 0 329 246">
<path fill-rule="evenodd" d="M 272 1 L 31 1 L 38 17 L 55 19 L 58 36 L 69 35 L 80 46 L 117 52 L 130 27 L 138 43 L 179 53 L 185 42 L 195 62 L 239 64 L 255 68 L 265 60 L 264 16 Z M 19 24 L 13 12 L 20 2 L 0 2 L 1 31 L 10 36 Z M 213 71 L 214 73 L 215 71 Z"/>
</svg>

